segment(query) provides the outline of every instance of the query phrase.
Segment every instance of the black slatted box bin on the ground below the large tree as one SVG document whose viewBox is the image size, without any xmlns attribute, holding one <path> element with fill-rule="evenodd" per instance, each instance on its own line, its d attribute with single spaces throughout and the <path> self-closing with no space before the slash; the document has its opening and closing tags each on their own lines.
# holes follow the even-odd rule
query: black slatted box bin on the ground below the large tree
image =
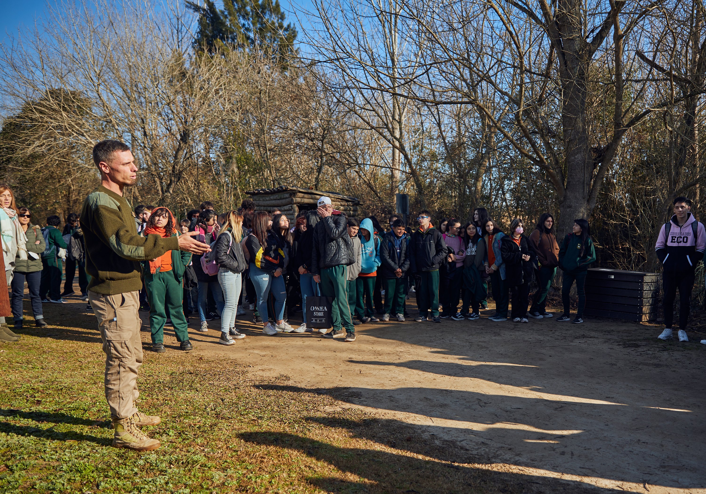
<svg viewBox="0 0 706 494">
<path fill-rule="evenodd" d="M 586 315 L 603 318 L 647 321 L 657 318 L 659 273 L 588 270 L 586 275 Z"/>
</svg>

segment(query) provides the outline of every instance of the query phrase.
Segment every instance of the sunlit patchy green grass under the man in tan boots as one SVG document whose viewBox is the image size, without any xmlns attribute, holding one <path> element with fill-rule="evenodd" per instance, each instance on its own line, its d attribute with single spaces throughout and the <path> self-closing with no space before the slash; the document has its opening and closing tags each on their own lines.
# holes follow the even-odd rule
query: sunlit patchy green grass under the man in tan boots
<svg viewBox="0 0 706 494">
<path fill-rule="evenodd" d="M 72 321 L 90 327 L 89 318 Z M 404 423 L 325 411 L 345 390 L 301 390 L 284 375 L 251 380 L 237 361 L 194 352 L 145 352 L 138 406 L 162 417 L 144 428 L 162 446 L 119 450 L 97 332 L 24 332 L 0 343 L 3 493 L 522 493 L 537 484 L 464 465 L 472 452 L 429 442 Z"/>
</svg>

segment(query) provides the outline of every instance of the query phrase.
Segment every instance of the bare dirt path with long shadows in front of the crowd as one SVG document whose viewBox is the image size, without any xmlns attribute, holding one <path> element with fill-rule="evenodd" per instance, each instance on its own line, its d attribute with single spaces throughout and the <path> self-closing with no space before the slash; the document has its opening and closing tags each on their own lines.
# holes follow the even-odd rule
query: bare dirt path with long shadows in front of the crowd
<svg viewBox="0 0 706 494">
<path fill-rule="evenodd" d="M 354 343 L 248 331 L 223 347 L 215 330 L 193 339 L 196 351 L 231 355 L 254 375 L 458 442 L 488 469 L 631 492 L 706 492 L 703 335 L 657 342 L 658 327 L 598 319 L 357 330 Z"/>
</svg>

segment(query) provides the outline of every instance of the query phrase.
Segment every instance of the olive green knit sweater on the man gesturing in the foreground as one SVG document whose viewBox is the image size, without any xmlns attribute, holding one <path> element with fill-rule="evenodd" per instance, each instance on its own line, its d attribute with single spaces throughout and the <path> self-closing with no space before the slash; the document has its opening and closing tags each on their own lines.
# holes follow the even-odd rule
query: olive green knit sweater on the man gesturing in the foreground
<svg viewBox="0 0 706 494">
<path fill-rule="evenodd" d="M 139 261 L 179 250 L 176 236 L 140 236 L 127 200 L 104 186 L 83 201 L 80 222 L 86 245 L 85 270 L 91 277 L 88 289 L 97 294 L 138 291 L 142 288 Z"/>
</svg>

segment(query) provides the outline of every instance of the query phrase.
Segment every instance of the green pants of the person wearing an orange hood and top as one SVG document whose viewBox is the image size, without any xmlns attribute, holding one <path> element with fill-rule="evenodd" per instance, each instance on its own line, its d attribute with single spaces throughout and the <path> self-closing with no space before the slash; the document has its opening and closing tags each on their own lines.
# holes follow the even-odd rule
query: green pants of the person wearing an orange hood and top
<svg viewBox="0 0 706 494">
<path fill-rule="evenodd" d="M 184 308 L 181 306 L 184 288 L 177 282 L 174 272 L 155 272 L 145 275 L 145 291 L 150 302 L 150 329 L 152 343 L 164 343 L 164 323 L 172 319 L 177 341 L 189 339 Z"/>
</svg>

